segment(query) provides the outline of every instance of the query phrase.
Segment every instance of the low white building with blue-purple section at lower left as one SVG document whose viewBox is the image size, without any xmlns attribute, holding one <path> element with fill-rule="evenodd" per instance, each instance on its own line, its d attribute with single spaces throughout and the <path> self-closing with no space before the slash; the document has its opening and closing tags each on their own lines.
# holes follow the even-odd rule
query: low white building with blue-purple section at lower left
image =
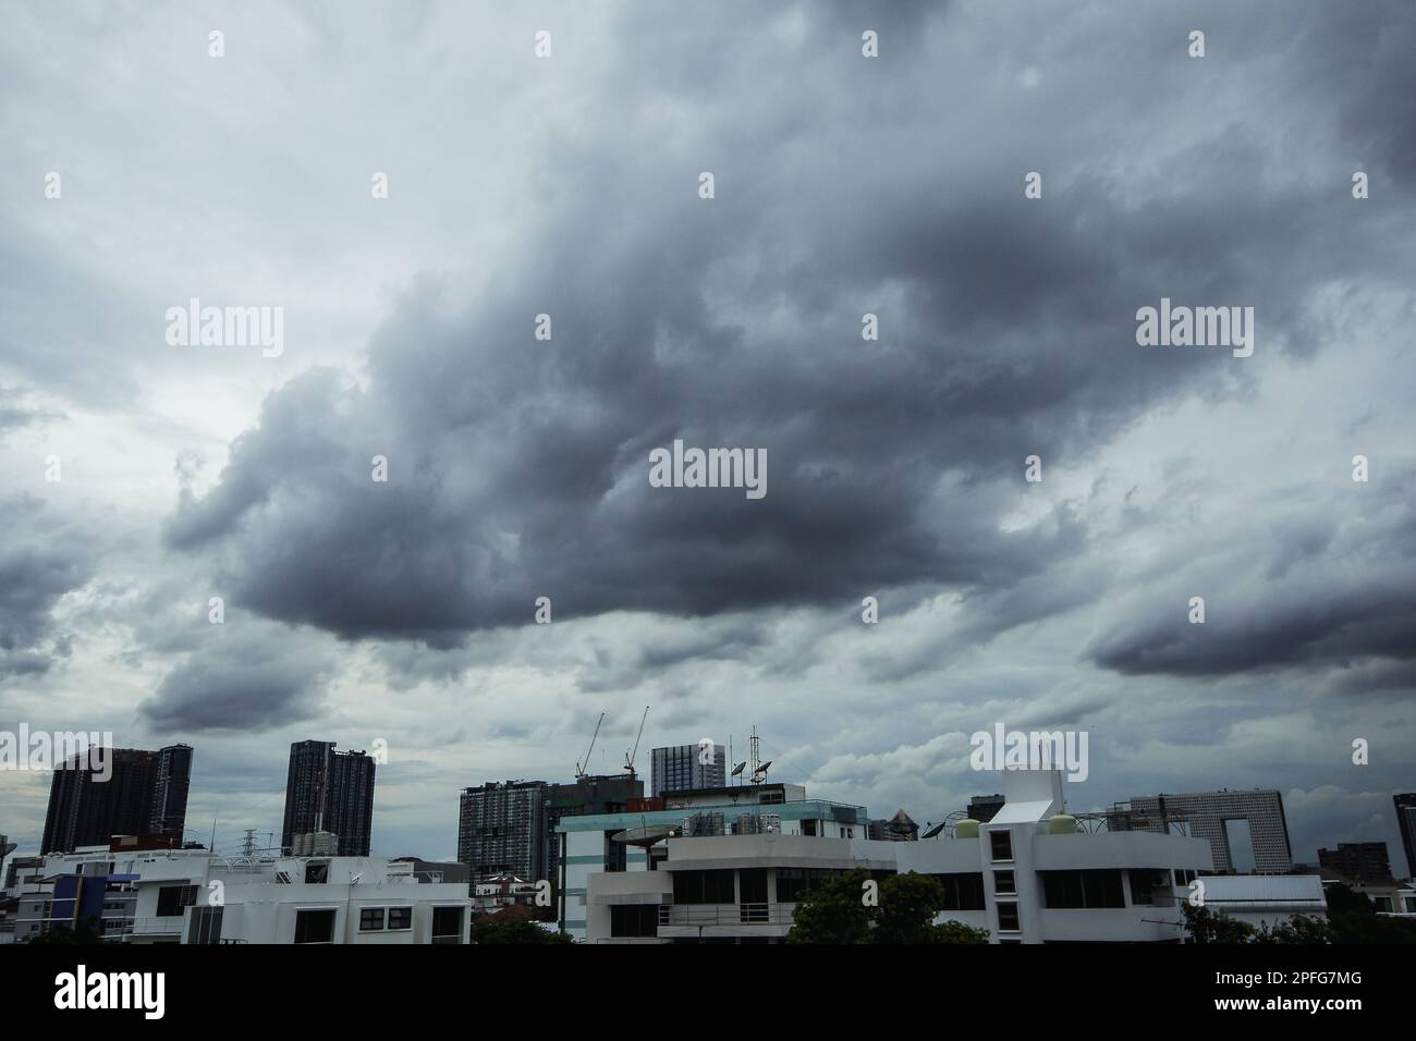
<svg viewBox="0 0 1416 1041">
<path fill-rule="evenodd" d="M 103 938 L 125 943 L 466 943 L 470 925 L 464 882 L 374 857 L 89 847 L 47 857 L 44 880 L 21 892 L 17 933 L 99 906 Z"/>
</svg>

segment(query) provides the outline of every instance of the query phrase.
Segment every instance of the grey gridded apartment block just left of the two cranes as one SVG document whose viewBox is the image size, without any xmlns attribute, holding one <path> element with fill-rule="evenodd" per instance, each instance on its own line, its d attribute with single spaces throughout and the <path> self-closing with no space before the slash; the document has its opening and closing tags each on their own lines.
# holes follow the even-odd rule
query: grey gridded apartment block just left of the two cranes
<svg viewBox="0 0 1416 1041">
<path fill-rule="evenodd" d="M 490 782 L 462 792 L 457 860 L 473 881 L 511 874 L 528 882 L 545 871 L 544 780 Z"/>
</svg>

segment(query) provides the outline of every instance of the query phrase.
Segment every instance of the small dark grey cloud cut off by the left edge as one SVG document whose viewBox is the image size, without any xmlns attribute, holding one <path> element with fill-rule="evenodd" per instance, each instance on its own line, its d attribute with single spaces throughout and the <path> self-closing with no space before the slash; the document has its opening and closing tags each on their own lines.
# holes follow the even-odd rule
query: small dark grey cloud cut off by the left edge
<svg viewBox="0 0 1416 1041">
<path fill-rule="evenodd" d="M 0 497 L 0 677 L 44 673 L 67 654 L 52 612 L 93 571 L 89 541 L 33 496 Z"/>
</svg>

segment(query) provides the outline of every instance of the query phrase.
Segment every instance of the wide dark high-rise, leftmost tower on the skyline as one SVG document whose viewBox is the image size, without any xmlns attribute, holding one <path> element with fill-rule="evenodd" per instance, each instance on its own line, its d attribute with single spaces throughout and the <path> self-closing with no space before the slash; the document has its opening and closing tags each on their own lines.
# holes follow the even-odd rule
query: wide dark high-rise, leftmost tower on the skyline
<svg viewBox="0 0 1416 1041">
<path fill-rule="evenodd" d="M 41 853 L 108 846 L 119 834 L 181 837 L 187 823 L 191 746 L 170 745 L 156 752 L 109 748 L 105 752 L 108 762 L 98 770 L 88 753 L 54 770 Z M 105 779 L 105 775 L 109 776 Z"/>
</svg>

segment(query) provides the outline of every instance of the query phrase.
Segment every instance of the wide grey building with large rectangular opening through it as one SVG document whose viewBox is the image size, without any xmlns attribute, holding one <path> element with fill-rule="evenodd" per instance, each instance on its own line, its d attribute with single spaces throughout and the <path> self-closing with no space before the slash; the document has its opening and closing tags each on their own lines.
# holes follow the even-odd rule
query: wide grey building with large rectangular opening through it
<svg viewBox="0 0 1416 1041">
<path fill-rule="evenodd" d="M 1144 831 L 1170 831 L 1171 821 L 1187 821 L 1191 836 L 1208 840 L 1219 874 L 1293 870 L 1283 796 L 1273 789 L 1134 796 L 1130 816 Z"/>
</svg>

